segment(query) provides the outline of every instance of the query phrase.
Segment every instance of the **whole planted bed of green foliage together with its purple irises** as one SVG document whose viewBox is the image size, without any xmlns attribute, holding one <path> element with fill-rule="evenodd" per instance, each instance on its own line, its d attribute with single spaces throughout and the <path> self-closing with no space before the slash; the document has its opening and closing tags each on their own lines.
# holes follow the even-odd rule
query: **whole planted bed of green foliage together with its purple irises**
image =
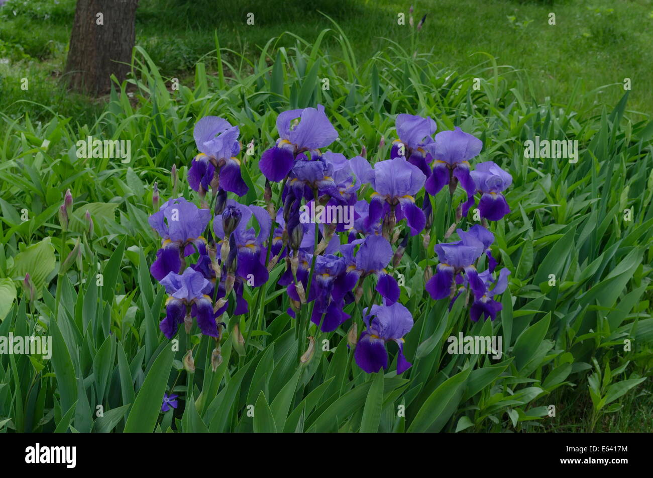
<svg viewBox="0 0 653 478">
<path fill-rule="evenodd" d="M 541 101 L 490 56 L 362 60 L 325 18 L 255 56 L 213 35 L 176 86 L 136 46 L 89 122 L 3 113 L 0 337 L 51 347 L 0 354 L 0 430 L 650 417 L 653 123 L 621 79 Z"/>
</svg>

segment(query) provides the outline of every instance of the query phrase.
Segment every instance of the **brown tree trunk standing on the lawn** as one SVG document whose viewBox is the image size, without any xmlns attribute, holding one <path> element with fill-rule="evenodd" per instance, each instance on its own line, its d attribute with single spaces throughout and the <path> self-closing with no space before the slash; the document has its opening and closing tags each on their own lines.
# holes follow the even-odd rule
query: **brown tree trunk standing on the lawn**
<svg viewBox="0 0 653 478">
<path fill-rule="evenodd" d="M 130 70 L 138 0 L 77 0 L 65 78 L 71 89 L 99 96 Z M 125 64 L 126 63 L 126 64 Z"/>
</svg>

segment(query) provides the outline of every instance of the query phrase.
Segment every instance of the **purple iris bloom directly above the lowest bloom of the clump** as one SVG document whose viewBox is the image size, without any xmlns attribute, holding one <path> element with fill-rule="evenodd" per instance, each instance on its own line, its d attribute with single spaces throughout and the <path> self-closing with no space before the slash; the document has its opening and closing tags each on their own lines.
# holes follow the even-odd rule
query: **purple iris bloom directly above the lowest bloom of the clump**
<svg viewBox="0 0 653 478">
<path fill-rule="evenodd" d="M 358 251 L 354 254 L 356 246 Z M 377 277 L 376 291 L 385 298 L 387 304 L 399 300 L 400 290 L 397 281 L 387 273 L 385 268 L 392 261 L 392 246 L 383 236 L 368 236 L 349 244 L 340 246 L 340 252 L 345 258 L 347 270 L 336 282 L 336 291 L 345 295 L 351 291 L 359 279 L 375 275 Z"/>
</svg>

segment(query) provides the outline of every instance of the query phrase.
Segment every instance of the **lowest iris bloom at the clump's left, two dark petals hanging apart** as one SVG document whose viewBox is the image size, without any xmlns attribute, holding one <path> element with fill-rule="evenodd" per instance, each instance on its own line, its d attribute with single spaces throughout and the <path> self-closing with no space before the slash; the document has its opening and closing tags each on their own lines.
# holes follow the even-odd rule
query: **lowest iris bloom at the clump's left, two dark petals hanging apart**
<svg viewBox="0 0 653 478">
<path fill-rule="evenodd" d="M 161 279 L 169 297 L 166 300 L 166 317 L 159 324 L 163 334 L 171 339 L 177 328 L 183 323 L 187 310 L 191 308 L 191 317 L 197 319 L 202 334 L 217 337 L 215 314 L 208 294 L 213 290 L 210 281 L 200 272 L 188 267 L 183 274 L 170 272 Z"/>
</svg>

